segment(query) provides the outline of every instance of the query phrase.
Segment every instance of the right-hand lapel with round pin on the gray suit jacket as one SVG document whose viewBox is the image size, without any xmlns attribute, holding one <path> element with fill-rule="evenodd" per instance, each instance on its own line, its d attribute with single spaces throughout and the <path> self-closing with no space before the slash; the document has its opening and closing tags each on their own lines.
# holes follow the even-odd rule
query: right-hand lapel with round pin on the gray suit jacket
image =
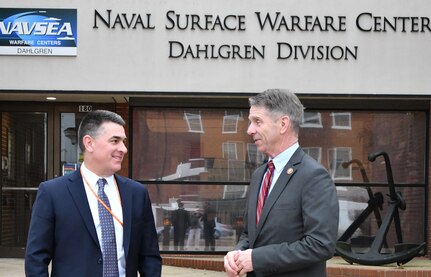
<svg viewBox="0 0 431 277">
<path fill-rule="evenodd" d="M 296 173 L 298 164 L 301 163 L 304 154 L 305 153 L 300 148 L 298 148 L 293 154 L 293 156 L 290 158 L 290 160 L 287 162 L 287 164 L 284 166 L 283 171 L 277 179 L 277 182 L 274 184 L 274 188 L 271 190 L 271 193 L 269 194 L 268 198 L 265 200 L 265 204 L 263 205 L 262 214 L 260 216 L 259 224 L 257 225 L 257 234 L 259 234 L 260 230 L 262 229 L 262 226 L 265 224 L 266 218 L 272 207 L 277 202 L 281 193 L 288 185 L 292 176 Z"/>
</svg>

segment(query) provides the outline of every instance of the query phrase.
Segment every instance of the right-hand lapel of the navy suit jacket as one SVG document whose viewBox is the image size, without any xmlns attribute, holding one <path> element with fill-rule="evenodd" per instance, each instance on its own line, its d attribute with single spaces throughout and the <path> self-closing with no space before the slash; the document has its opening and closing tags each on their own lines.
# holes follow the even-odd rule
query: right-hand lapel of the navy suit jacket
<svg viewBox="0 0 431 277">
<path fill-rule="evenodd" d="M 123 208 L 123 246 L 124 253 L 127 258 L 127 253 L 129 253 L 130 246 L 130 235 L 132 231 L 132 206 L 133 198 L 132 191 L 126 189 L 127 180 L 119 175 L 114 175 L 117 181 L 118 191 L 120 192 L 121 204 Z"/>
</svg>

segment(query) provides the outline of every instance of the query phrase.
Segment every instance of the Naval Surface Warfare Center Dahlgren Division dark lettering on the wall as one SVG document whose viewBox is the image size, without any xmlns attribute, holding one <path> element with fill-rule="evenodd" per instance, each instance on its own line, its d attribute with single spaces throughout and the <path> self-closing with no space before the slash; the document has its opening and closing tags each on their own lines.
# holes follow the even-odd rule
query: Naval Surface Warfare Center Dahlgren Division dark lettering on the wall
<svg viewBox="0 0 431 277">
<path fill-rule="evenodd" d="M 118 12 L 111 9 L 94 11 L 93 29 L 101 27 L 115 31 L 159 31 L 165 37 L 166 56 L 182 60 L 263 60 L 277 61 L 356 61 L 361 58 L 358 41 L 364 35 L 387 39 L 402 34 L 426 38 L 431 33 L 428 16 L 389 15 L 358 11 L 340 14 L 291 14 L 289 12 L 248 11 L 247 13 L 181 13 L 168 10 L 161 19 L 146 12 Z M 160 24 L 157 24 L 157 23 Z M 248 40 L 246 32 L 274 40 Z M 187 33 L 179 37 L 178 33 Z M 207 41 L 206 33 L 213 36 Z M 223 39 L 237 33 L 236 39 Z M 223 34 L 223 35 L 221 35 Z M 313 36 L 310 36 L 313 34 Z M 355 34 L 352 36 L 351 34 Z M 301 42 L 301 36 L 307 42 Z M 333 40 L 326 39 L 332 36 Z M 343 39 L 344 37 L 344 39 Z M 293 39 L 296 38 L 296 39 Z M 299 39 L 298 39 L 299 38 Z M 194 39 L 194 40 L 193 40 Z M 215 41 L 215 42 L 214 42 Z M 299 41 L 299 42 L 298 42 Z M 335 42 L 334 42 L 335 41 Z"/>
</svg>

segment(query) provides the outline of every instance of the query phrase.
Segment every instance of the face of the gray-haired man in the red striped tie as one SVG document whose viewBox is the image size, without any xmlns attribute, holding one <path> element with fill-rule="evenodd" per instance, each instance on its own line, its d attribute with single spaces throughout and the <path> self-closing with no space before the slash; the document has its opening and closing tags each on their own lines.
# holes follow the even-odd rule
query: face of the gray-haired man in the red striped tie
<svg viewBox="0 0 431 277">
<path fill-rule="evenodd" d="M 269 116 L 268 111 L 260 106 L 250 107 L 248 119 L 250 125 L 248 126 L 247 134 L 253 138 L 257 149 L 270 157 L 278 154 L 276 152 L 280 141 L 278 120 L 274 121 Z"/>
</svg>

